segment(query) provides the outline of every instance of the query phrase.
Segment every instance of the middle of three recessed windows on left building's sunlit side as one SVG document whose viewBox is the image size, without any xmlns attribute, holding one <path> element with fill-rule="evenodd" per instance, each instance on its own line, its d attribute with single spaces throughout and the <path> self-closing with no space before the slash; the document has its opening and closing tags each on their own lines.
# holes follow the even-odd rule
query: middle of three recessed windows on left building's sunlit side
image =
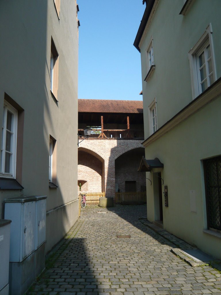
<svg viewBox="0 0 221 295">
<path fill-rule="evenodd" d="M 57 99 L 58 90 L 58 53 L 55 43 L 51 40 L 51 62 L 50 62 L 51 92 Z"/>
</svg>

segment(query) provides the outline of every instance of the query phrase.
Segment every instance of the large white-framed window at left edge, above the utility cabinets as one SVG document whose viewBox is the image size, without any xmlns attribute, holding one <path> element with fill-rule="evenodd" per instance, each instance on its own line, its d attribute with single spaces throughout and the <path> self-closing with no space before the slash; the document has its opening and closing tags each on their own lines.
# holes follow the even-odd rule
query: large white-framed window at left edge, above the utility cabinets
<svg viewBox="0 0 221 295">
<path fill-rule="evenodd" d="M 18 112 L 4 102 L 1 138 L 1 176 L 15 178 Z"/>
</svg>

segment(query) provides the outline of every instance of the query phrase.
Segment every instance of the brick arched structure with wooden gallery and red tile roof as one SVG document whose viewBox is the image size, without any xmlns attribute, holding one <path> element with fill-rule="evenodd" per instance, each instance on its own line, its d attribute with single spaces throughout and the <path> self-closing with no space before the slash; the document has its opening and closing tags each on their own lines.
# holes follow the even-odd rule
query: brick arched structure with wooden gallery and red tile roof
<svg viewBox="0 0 221 295">
<path fill-rule="evenodd" d="M 79 99 L 80 135 L 86 127 L 93 131 L 79 143 L 79 190 L 114 198 L 118 191 L 146 190 L 145 176 L 137 171 L 144 155 L 142 101 Z"/>
</svg>

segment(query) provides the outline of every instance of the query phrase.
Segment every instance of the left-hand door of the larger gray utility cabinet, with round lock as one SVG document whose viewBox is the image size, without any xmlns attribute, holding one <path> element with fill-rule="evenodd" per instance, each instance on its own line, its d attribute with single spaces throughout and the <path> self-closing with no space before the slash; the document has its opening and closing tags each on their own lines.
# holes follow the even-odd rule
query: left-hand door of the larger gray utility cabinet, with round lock
<svg viewBox="0 0 221 295">
<path fill-rule="evenodd" d="M 23 252 L 22 259 L 28 256 L 35 248 L 36 201 L 24 203 L 23 223 Z"/>
</svg>

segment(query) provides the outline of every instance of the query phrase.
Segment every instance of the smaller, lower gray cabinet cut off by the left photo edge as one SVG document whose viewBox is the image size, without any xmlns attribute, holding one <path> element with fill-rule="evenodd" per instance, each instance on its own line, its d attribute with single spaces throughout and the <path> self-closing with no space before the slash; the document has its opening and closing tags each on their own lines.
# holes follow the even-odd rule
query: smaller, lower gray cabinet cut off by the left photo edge
<svg viewBox="0 0 221 295">
<path fill-rule="evenodd" d="M 0 295 L 9 294 L 9 243 L 11 220 L 0 219 Z"/>
</svg>

